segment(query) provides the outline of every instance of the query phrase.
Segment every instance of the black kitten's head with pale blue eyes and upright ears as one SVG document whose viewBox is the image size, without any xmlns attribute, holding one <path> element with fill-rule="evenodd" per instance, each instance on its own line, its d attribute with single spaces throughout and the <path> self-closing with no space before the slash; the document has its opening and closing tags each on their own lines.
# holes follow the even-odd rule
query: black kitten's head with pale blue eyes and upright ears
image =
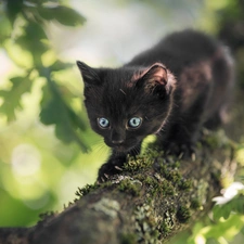
<svg viewBox="0 0 244 244">
<path fill-rule="evenodd" d="M 118 152 L 134 149 L 164 126 L 175 78 L 160 63 L 150 67 L 92 68 L 77 62 L 92 129 Z"/>
</svg>

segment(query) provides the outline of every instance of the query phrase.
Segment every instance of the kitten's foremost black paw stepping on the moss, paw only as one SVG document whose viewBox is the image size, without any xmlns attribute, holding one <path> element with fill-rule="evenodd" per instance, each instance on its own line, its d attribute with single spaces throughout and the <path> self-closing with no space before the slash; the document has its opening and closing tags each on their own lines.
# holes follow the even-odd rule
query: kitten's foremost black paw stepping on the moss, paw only
<svg viewBox="0 0 244 244">
<path fill-rule="evenodd" d="M 102 167 L 99 169 L 98 183 L 105 182 L 110 180 L 111 176 L 121 172 L 124 164 L 124 158 L 114 158 L 102 165 Z"/>
</svg>

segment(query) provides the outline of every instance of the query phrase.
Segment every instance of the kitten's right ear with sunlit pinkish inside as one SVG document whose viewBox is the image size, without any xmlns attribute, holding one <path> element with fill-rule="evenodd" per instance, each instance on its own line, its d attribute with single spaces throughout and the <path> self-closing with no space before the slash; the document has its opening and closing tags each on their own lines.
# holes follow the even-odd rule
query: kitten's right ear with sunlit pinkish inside
<svg viewBox="0 0 244 244">
<path fill-rule="evenodd" d="M 170 93 L 175 81 L 172 74 L 163 64 L 155 63 L 140 74 L 137 85 L 143 86 L 146 92 L 165 90 Z"/>
</svg>

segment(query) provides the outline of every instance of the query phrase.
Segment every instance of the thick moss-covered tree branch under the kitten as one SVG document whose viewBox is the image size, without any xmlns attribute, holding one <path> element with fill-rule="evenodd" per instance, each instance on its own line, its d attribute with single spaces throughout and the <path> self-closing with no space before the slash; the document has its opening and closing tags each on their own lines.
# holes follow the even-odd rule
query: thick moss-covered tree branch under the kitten
<svg viewBox="0 0 244 244">
<path fill-rule="evenodd" d="M 154 145 L 107 182 L 79 189 L 62 213 L 33 228 L 0 229 L 0 243 L 165 243 L 209 211 L 221 180 L 235 172 L 233 155 L 220 132 L 205 136 L 192 159 L 166 156 Z"/>
</svg>

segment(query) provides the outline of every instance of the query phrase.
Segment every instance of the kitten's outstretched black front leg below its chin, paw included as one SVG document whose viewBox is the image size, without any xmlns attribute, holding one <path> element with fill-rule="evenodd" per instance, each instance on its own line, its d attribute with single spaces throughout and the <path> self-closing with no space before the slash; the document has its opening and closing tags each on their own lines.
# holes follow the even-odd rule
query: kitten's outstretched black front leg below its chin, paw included
<svg viewBox="0 0 244 244">
<path fill-rule="evenodd" d="M 110 176 L 114 176 L 123 171 L 123 166 L 127 160 L 128 156 L 136 157 L 140 154 L 141 144 L 137 146 L 137 150 L 131 150 L 129 152 L 116 152 L 113 150 L 112 155 L 107 163 L 103 164 L 102 167 L 99 169 L 98 182 L 106 181 Z"/>
</svg>

